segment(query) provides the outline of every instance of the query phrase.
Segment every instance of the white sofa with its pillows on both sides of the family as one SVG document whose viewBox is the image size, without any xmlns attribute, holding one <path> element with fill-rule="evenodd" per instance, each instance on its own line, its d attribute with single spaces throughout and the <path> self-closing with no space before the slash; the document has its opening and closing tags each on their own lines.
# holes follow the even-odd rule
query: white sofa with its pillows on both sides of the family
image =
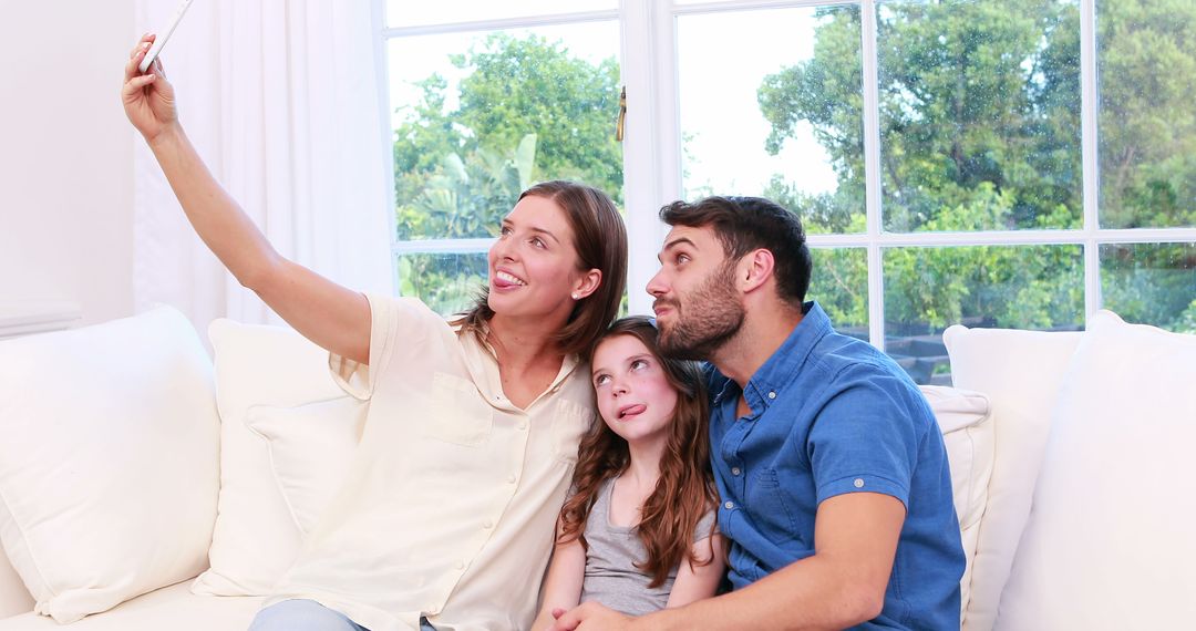
<svg viewBox="0 0 1196 631">
<path fill-rule="evenodd" d="M 161 307 L 0 343 L 0 631 L 248 626 L 366 404 L 291 331 L 209 337 L 214 366 Z M 964 629 L 1191 624 L 1196 337 L 1102 312 L 1084 333 L 945 342 L 956 387 L 925 392 L 969 553 Z"/>
</svg>

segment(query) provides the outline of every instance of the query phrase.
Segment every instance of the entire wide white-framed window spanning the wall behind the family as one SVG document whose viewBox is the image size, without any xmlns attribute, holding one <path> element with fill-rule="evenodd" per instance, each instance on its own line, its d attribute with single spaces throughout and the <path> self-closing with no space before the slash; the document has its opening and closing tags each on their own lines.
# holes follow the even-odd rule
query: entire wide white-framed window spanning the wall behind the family
<svg viewBox="0 0 1196 631">
<path fill-rule="evenodd" d="M 1196 4 L 386 8 L 399 290 L 437 308 L 484 277 L 523 178 L 578 177 L 627 209 L 634 312 L 659 207 L 739 194 L 800 214 L 811 298 L 920 382 L 950 379 L 956 323 L 1080 329 L 1107 307 L 1196 332 Z"/>
</svg>

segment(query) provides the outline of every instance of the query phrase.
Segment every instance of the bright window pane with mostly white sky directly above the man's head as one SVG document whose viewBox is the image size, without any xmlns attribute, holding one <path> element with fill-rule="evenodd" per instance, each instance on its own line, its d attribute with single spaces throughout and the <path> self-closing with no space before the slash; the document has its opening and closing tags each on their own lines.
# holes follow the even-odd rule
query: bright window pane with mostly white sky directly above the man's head
<svg viewBox="0 0 1196 631">
<path fill-rule="evenodd" d="M 864 232 L 860 11 L 683 16 L 684 195 L 763 195 L 810 233 Z"/>
</svg>

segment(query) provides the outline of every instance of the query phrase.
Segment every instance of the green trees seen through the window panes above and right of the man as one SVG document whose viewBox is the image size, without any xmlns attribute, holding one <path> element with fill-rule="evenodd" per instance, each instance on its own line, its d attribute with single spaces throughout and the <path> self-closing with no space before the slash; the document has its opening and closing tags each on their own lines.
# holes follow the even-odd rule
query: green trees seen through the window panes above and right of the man
<svg viewBox="0 0 1196 631">
<path fill-rule="evenodd" d="M 1196 109 L 1189 103 L 1196 4 L 1103 0 L 1099 7 L 1103 225 L 1196 225 Z M 768 76 L 758 100 L 771 124 L 765 149 L 779 152 L 808 123 L 838 188 L 807 195 L 776 176 L 765 195 L 801 215 L 810 233 L 862 232 L 860 14 L 820 10 L 819 19 L 813 56 Z M 886 229 L 1081 226 L 1075 1 L 886 2 L 878 5 L 878 47 Z M 811 293 L 844 323 L 865 323 L 864 258 L 816 255 L 832 269 L 816 269 Z M 1134 249 L 1131 256 L 1146 255 Z M 1106 304 L 1140 313 L 1139 321 L 1188 326 L 1194 267 L 1179 258 L 1122 272 L 1116 282 L 1109 276 Z M 911 325 L 910 333 L 964 318 L 1073 326 L 1084 312 L 1079 246 L 889 249 L 884 269 L 886 320 Z"/>
</svg>

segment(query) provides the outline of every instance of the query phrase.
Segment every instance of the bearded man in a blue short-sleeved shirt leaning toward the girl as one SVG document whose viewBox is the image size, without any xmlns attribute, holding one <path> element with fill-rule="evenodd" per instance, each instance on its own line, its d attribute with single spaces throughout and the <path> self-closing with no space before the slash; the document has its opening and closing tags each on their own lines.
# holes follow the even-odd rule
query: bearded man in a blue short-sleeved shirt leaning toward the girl
<svg viewBox="0 0 1196 631">
<path fill-rule="evenodd" d="M 917 386 L 804 302 L 800 221 L 757 197 L 676 202 L 648 283 L 666 353 L 707 360 L 733 590 L 556 629 L 959 629 L 964 553 L 946 449 Z"/>
</svg>

